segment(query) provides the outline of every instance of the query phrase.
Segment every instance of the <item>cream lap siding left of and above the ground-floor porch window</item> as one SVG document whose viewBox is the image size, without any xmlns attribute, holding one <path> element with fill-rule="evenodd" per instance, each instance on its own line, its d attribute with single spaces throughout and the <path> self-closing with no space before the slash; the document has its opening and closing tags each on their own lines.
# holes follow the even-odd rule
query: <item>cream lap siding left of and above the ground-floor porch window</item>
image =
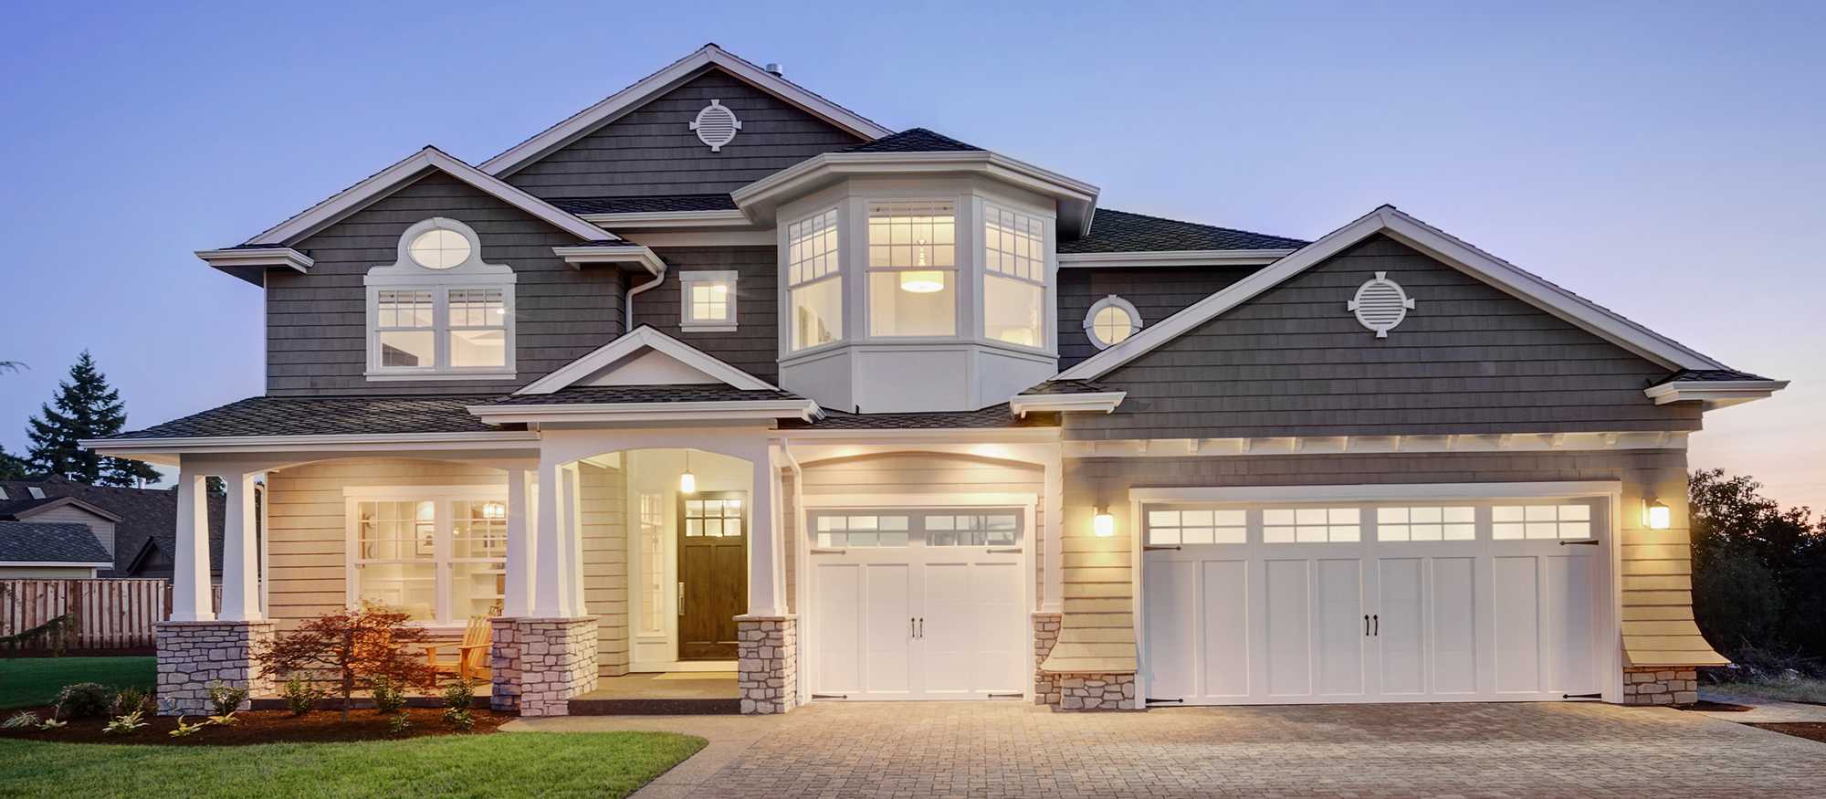
<svg viewBox="0 0 1826 799">
<path fill-rule="evenodd" d="M 347 602 L 347 500 L 358 485 L 506 485 L 498 469 L 456 462 L 332 460 L 267 474 L 268 615 L 289 629 Z"/>
</svg>

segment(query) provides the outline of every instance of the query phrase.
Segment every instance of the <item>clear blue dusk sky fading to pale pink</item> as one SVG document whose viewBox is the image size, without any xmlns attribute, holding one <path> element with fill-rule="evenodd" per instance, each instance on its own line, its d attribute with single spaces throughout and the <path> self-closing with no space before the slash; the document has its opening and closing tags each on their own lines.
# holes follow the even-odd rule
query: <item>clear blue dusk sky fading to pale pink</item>
<svg viewBox="0 0 1826 799">
<path fill-rule="evenodd" d="M 705 42 L 876 122 L 1315 239 L 1382 202 L 1735 368 L 1693 467 L 1826 509 L 1826 4 L 16 4 L 0 445 L 88 348 L 144 427 L 263 390 L 228 246 Z"/>
</svg>

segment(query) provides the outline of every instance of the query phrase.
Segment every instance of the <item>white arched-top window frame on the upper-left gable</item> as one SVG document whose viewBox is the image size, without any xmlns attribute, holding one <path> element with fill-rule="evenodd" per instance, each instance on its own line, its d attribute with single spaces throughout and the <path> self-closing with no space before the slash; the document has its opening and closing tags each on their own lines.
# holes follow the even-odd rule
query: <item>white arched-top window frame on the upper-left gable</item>
<svg viewBox="0 0 1826 799">
<path fill-rule="evenodd" d="M 451 230 L 460 233 L 469 241 L 469 257 L 451 268 L 435 270 L 420 266 L 413 261 L 411 244 L 420 233 L 427 230 Z M 404 379 L 513 379 L 515 378 L 515 301 L 513 286 L 515 275 L 513 268 L 504 265 L 489 265 L 482 261 L 482 239 L 467 224 L 447 219 L 431 217 L 413 226 L 405 228 L 400 235 L 398 257 L 391 265 L 374 266 L 367 272 L 367 370 L 365 378 L 369 381 L 404 381 Z M 500 367 L 451 367 L 451 319 L 449 319 L 449 294 L 451 290 L 464 288 L 493 288 L 500 292 L 502 303 L 502 339 L 504 339 L 504 358 Z M 435 356 L 431 367 L 383 367 L 382 348 L 380 348 L 380 294 L 382 292 L 431 292 L 431 332 L 435 341 Z M 467 327 L 477 330 L 475 327 Z M 493 327 L 488 327 L 493 328 Z"/>
</svg>

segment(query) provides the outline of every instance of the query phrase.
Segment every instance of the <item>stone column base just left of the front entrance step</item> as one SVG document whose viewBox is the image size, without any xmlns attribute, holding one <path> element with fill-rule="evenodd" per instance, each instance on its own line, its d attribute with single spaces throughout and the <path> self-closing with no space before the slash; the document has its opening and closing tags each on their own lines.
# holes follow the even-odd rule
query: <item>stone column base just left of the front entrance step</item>
<svg viewBox="0 0 1826 799">
<path fill-rule="evenodd" d="M 488 699 L 520 715 L 570 715 L 570 699 L 595 690 L 597 618 L 495 618 Z"/>
</svg>

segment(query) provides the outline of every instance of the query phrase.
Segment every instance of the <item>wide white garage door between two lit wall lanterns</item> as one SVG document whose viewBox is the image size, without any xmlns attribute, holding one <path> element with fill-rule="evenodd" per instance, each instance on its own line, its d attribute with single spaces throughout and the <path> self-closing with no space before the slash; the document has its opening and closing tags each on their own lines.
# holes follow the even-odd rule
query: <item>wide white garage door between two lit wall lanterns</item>
<svg viewBox="0 0 1826 799">
<path fill-rule="evenodd" d="M 1147 697 L 1600 691 L 1607 500 L 1143 505 Z"/>
</svg>

